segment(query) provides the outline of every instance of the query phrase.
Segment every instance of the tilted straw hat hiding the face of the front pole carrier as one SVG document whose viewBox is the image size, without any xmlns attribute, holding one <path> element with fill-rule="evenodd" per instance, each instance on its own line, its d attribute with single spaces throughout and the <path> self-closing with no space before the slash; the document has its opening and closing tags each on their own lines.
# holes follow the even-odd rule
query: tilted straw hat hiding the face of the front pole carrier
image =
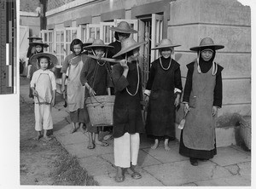
<svg viewBox="0 0 256 189">
<path fill-rule="evenodd" d="M 121 43 L 121 47 L 122 49 L 119 51 L 119 53 L 114 54 L 113 58 L 118 57 L 121 54 L 125 54 L 130 52 L 133 49 L 137 49 L 139 46 L 141 46 L 143 43 L 147 43 L 147 42 L 140 42 L 137 43 L 133 38 L 129 37 L 126 38 L 122 43 Z"/>
</svg>

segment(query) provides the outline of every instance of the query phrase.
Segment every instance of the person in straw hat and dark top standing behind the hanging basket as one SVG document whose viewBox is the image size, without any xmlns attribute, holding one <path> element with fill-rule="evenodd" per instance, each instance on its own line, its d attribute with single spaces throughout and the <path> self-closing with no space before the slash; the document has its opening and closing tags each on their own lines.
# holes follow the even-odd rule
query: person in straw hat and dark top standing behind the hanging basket
<svg viewBox="0 0 256 189">
<path fill-rule="evenodd" d="M 92 54 L 96 56 L 104 56 L 107 51 L 112 46 L 104 44 L 101 39 L 96 39 L 91 45 L 85 47 L 86 50 L 91 50 Z M 109 75 L 110 67 L 108 62 L 99 61 L 95 59 L 88 58 L 82 69 L 80 75 L 80 81 L 85 85 L 85 100 L 89 96 L 93 95 L 110 95 L 110 87 L 113 86 Z M 96 144 L 101 146 L 108 146 L 108 143 L 104 140 L 98 140 L 99 128 L 91 126 L 90 117 L 88 115 L 87 109 L 85 108 L 86 114 L 86 126 L 89 132 L 89 144 L 88 149 L 94 149 Z"/>
</svg>

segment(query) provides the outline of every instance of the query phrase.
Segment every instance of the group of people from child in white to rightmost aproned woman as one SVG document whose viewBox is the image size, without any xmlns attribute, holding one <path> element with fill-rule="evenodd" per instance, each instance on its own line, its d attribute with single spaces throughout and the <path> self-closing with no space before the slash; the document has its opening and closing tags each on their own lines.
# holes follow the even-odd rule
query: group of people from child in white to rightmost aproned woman
<svg viewBox="0 0 256 189">
<path fill-rule="evenodd" d="M 85 100 L 95 95 L 115 95 L 113 105 L 113 154 L 117 168 L 115 180 L 125 180 L 125 170 L 133 179 L 142 177 L 135 167 L 140 146 L 140 134 L 146 133 L 154 139 L 152 149 L 164 140 L 164 148 L 169 151 L 169 140 L 175 140 L 175 116 L 183 94 L 186 122 L 180 135 L 179 152 L 189 157 L 194 166 L 198 160 L 205 161 L 216 154 L 215 117 L 222 106 L 222 66 L 214 62 L 216 50 L 223 45 L 214 44 L 212 38 L 205 37 L 199 46 L 190 50 L 197 52 L 197 59 L 187 65 L 188 72 L 183 90 L 180 65 L 173 59 L 174 48 L 170 39 L 162 39 L 154 50 L 160 57 L 150 66 L 146 89 L 143 90 L 142 71 L 138 56 L 140 47 L 125 21 L 112 27 L 116 41 L 109 45 L 101 39 L 89 39 L 82 43 L 74 39 L 70 45 L 72 54 L 63 62 L 61 90 L 67 93 L 67 105 L 72 121 L 71 133 L 79 127 L 90 134 L 89 149 L 97 144 L 108 146 L 106 140 L 99 140 L 101 128 L 92 126 Z M 108 57 L 115 61 L 106 61 Z M 32 75 L 32 94 L 35 98 L 36 130 L 52 129 L 50 106 L 55 105 L 55 77 L 49 69 L 55 65 L 52 54 L 38 53 L 30 59 L 37 62 L 39 70 Z M 35 61 L 37 60 L 37 61 Z M 114 63 L 119 60 L 119 63 Z M 67 87 L 65 85 L 67 80 Z M 143 103 L 144 102 L 144 103 Z M 143 122 L 143 106 L 148 114 Z M 44 132 L 44 138 L 48 136 Z"/>
</svg>

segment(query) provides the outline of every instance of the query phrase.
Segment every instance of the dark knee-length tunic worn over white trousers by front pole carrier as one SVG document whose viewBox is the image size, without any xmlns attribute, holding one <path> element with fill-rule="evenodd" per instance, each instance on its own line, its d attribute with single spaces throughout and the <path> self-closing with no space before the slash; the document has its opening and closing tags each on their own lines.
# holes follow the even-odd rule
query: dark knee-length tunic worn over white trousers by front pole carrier
<svg viewBox="0 0 256 189">
<path fill-rule="evenodd" d="M 113 66 L 113 83 L 115 87 L 115 100 L 113 106 L 113 137 L 118 138 L 126 132 L 129 134 L 143 133 L 143 117 L 141 101 L 143 100 L 141 70 L 139 81 L 137 77 L 137 62 L 128 63 L 129 72 L 123 76 L 124 69 L 119 64 Z M 137 91 L 137 83 L 139 88 Z M 137 94 L 131 96 L 131 94 Z"/>
</svg>

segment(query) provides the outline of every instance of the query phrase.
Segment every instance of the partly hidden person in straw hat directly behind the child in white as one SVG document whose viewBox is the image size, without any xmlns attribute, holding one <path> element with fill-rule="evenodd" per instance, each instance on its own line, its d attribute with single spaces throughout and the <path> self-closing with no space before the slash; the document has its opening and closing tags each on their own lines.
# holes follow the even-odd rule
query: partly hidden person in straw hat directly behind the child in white
<svg viewBox="0 0 256 189">
<path fill-rule="evenodd" d="M 34 39 L 32 43 L 30 43 L 32 47 L 32 51 L 28 60 L 28 69 L 27 69 L 27 78 L 32 79 L 33 73 L 38 70 L 38 66 L 32 66 L 31 57 L 33 54 L 43 53 L 44 48 L 47 48 L 49 45 L 43 43 L 41 39 Z M 32 89 L 29 90 L 29 97 L 33 98 Z"/>
</svg>

